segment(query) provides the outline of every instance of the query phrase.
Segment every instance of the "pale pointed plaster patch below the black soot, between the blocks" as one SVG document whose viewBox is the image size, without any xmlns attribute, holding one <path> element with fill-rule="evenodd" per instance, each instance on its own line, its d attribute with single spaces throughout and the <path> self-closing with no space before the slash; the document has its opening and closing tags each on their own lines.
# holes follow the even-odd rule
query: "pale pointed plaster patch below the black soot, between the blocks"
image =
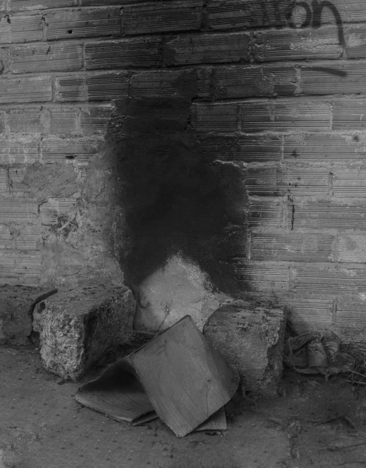
<svg viewBox="0 0 366 468">
<path fill-rule="evenodd" d="M 207 318 L 220 306 L 206 274 L 178 255 L 142 283 L 139 295 L 134 321 L 138 330 L 162 331 L 185 315 L 191 315 L 202 330 Z"/>
</svg>

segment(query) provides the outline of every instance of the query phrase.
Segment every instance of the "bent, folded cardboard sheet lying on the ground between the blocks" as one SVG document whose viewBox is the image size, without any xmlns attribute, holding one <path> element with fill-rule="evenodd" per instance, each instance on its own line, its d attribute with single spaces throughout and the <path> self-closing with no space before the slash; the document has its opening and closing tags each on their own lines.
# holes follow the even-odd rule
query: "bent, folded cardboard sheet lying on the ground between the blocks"
<svg viewBox="0 0 366 468">
<path fill-rule="evenodd" d="M 219 411 L 239 384 L 236 370 L 205 340 L 187 315 L 110 366 L 75 395 L 84 406 L 138 425 L 157 416 L 179 437 L 212 415 L 202 430 L 225 428 Z"/>
</svg>

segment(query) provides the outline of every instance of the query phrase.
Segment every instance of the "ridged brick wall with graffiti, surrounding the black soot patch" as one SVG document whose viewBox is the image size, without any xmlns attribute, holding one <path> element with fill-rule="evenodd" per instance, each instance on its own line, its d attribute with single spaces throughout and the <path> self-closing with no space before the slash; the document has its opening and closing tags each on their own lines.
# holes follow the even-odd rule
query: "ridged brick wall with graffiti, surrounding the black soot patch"
<svg viewBox="0 0 366 468">
<path fill-rule="evenodd" d="M 366 4 L 294 4 L 1 1 L 2 281 L 118 276 L 108 135 L 160 119 L 208 166 L 242 170 L 247 219 L 225 260 L 236 295 L 276 298 L 299 331 L 361 340 Z"/>
</svg>

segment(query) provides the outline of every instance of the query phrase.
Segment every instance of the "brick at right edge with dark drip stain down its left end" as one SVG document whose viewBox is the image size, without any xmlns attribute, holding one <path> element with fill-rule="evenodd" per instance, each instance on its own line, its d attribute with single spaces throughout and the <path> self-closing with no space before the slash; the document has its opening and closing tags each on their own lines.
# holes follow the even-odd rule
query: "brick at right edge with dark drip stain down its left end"
<svg viewBox="0 0 366 468">
<path fill-rule="evenodd" d="M 341 204 L 329 201 L 306 201 L 299 203 L 294 200 L 287 207 L 287 224 L 293 229 L 366 229 L 366 208 L 357 204 Z M 293 214 L 293 218 L 292 218 Z"/>
</svg>

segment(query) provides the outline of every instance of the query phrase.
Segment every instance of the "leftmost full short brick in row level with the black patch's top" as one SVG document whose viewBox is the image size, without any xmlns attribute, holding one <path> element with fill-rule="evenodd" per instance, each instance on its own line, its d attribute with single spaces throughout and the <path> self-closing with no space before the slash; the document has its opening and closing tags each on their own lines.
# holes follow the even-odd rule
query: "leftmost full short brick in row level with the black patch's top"
<svg viewBox="0 0 366 468">
<path fill-rule="evenodd" d="M 44 133 L 47 122 L 41 107 L 10 109 L 7 114 L 10 133 Z"/>
</svg>

